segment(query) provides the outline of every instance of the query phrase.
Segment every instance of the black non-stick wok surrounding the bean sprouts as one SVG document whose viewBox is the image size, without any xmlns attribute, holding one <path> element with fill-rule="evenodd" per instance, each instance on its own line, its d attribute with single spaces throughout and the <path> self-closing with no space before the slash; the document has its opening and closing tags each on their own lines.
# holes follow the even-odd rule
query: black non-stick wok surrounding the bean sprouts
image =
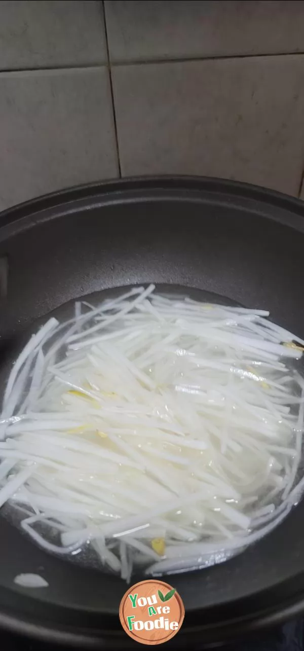
<svg viewBox="0 0 304 651">
<path fill-rule="evenodd" d="M 137 283 L 178 284 L 267 308 L 304 337 L 304 204 L 200 178 L 125 180 L 28 202 L 0 217 L 0 355 L 63 303 Z M 21 589 L 20 572 L 48 589 Z M 167 646 L 228 640 L 304 609 L 304 503 L 234 559 L 171 578 L 186 609 Z M 1 518 L 0 626 L 81 648 L 129 648 L 126 584 L 33 546 Z M 167 648 L 166 646 L 166 648 Z"/>
</svg>

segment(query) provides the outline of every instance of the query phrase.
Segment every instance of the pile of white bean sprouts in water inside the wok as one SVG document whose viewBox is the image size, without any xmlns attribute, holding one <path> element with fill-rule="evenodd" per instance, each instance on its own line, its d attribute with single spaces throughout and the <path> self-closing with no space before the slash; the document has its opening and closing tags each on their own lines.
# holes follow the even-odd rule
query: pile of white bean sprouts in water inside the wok
<svg viewBox="0 0 304 651">
<path fill-rule="evenodd" d="M 50 318 L 7 381 L 0 506 L 129 580 L 221 562 L 301 497 L 304 341 L 268 312 L 131 288 Z"/>
</svg>

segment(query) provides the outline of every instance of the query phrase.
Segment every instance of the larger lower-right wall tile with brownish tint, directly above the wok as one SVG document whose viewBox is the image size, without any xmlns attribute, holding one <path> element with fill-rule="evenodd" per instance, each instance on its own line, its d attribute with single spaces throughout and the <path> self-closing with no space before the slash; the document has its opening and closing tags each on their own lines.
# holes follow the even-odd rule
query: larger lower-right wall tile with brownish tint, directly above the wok
<svg viewBox="0 0 304 651">
<path fill-rule="evenodd" d="M 304 56 L 113 68 L 122 173 L 206 174 L 296 194 Z"/>
</svg>

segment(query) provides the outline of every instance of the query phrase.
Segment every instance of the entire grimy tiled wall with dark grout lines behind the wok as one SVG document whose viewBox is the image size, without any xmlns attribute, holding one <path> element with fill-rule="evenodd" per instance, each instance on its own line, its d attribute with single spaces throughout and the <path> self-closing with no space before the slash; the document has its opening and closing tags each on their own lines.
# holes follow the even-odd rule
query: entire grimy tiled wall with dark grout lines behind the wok
<svg viewBox="0 0 304 651">
<path fill-rule="evenodd" d="M 304 199 L 303 0 L 0 0 L 0 208 L 130 174 Z"/>
</svg>

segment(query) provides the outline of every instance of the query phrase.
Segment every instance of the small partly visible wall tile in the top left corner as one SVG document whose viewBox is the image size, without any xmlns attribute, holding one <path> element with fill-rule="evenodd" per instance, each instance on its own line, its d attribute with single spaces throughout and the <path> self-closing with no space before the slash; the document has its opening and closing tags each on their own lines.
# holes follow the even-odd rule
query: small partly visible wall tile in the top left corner
<svg viewBox="0 0 304 651">
<path fill-rule="evenodd" d="M 1 0 L 0 70 L 106 61 L 102 3 Z"/>
</svg>

